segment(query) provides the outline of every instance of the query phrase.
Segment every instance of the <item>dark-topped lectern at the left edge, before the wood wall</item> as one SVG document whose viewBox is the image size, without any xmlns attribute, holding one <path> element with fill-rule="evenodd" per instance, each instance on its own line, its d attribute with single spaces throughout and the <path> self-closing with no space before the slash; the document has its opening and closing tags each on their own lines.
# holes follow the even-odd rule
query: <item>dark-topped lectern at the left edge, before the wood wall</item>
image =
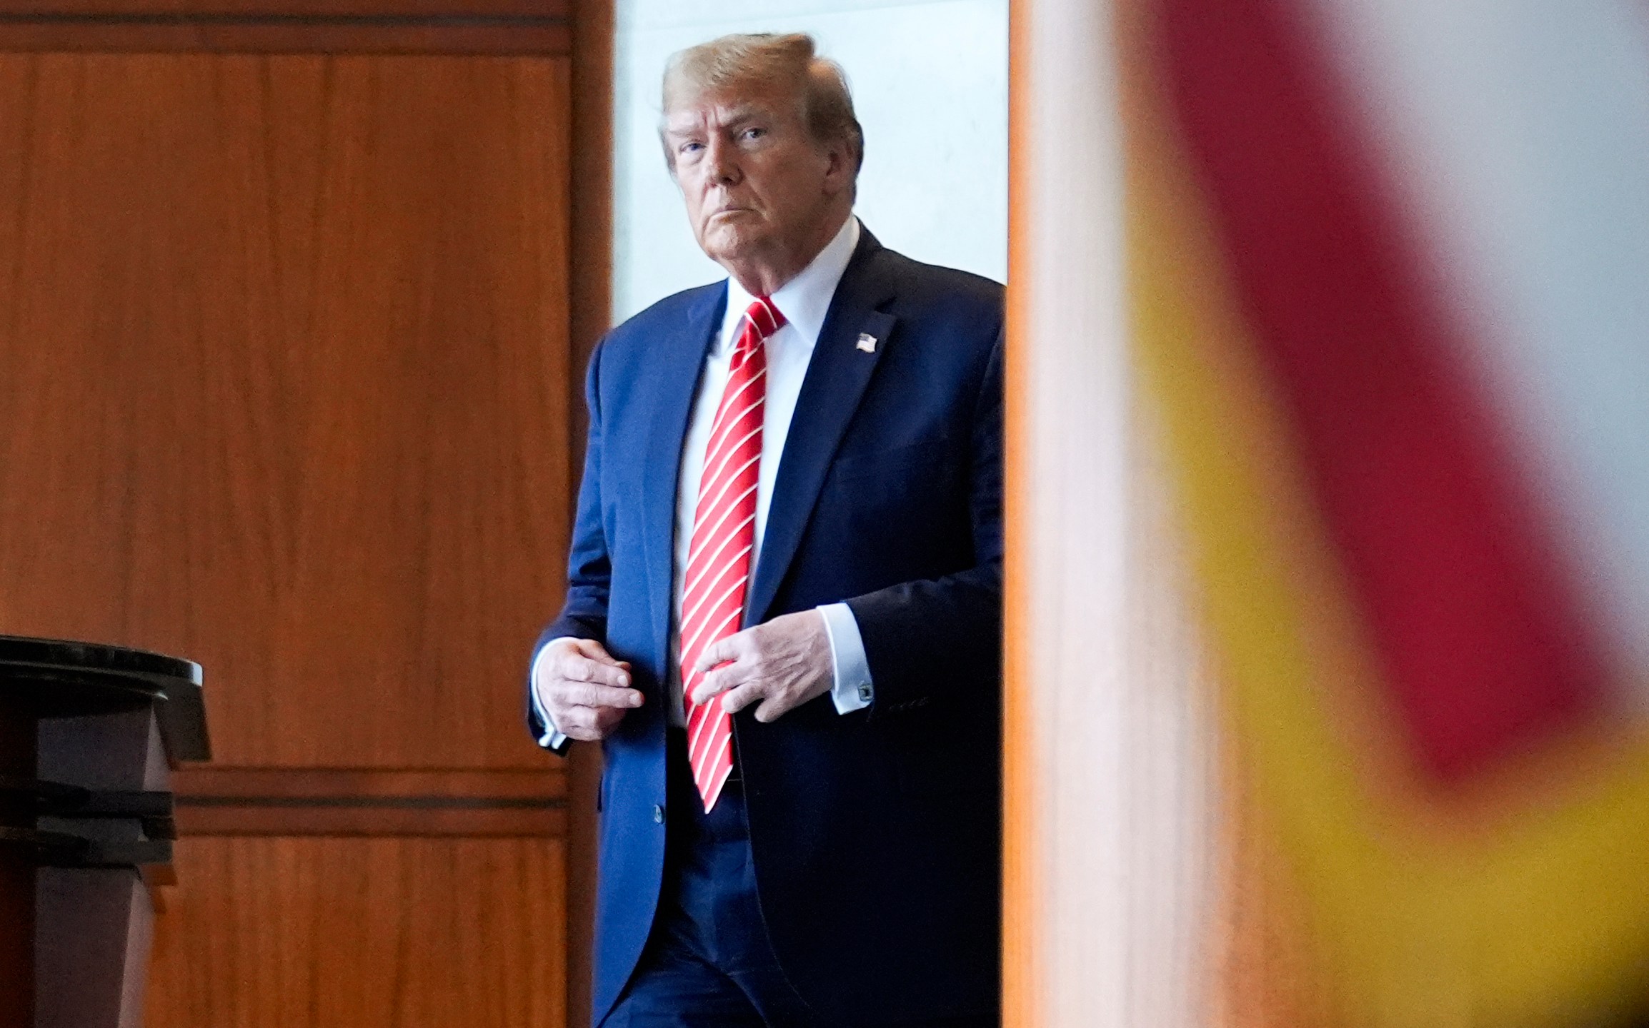
<svg viewBox="0 0 1649 1028">
<path fill-rule="evenodd" d="M 135 1028 L 201 669 L 0 636 L 0 1028 Z"/>
</svg>

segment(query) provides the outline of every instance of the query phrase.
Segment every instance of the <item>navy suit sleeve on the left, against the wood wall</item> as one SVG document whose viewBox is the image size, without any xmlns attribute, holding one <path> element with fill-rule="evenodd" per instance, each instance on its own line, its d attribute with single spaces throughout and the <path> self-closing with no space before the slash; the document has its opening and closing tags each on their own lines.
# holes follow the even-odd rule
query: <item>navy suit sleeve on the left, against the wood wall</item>
<svg viewBox="0 0 1649 1028">
<path fill-rule="evenodd" d="M 590 412 L 589 442 L 584 446 L 584 481 L 579 486 L 579 509 L 572 521 L 572 549 L 567 557 L 567 598 L 561 614 L 549 623 L 528 657 L 526 725 L 533 740 L 556 753 L 566 753 L 569 740 L 544 723 L 533 699 L 533 664 L 538 654 L 561 638 L 607 641 L 607 595 L 612 582 L 612 563 L 607 554 L 607 532 L 602 526 L 602 407 L 600 407 L 602 346 L 590 354 L 590 369 L 584 381 L 584 400 Z"/>
</svg>

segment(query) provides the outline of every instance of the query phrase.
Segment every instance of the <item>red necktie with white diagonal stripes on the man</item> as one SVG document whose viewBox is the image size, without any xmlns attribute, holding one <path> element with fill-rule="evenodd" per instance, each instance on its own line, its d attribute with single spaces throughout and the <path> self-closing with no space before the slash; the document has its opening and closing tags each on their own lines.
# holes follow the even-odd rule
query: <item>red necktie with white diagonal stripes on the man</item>
<svg viewBox="0 0 1649 1028">
<path fill-rule="evenodd" d="M 693 671 L 711 642 L 739 631 L 744 586 L 755 549 L 755 483 L 762 466 L 762 410 L 767 400 L 767 351 L 762 341 L 783 328 L 785 316 L 767 297 L 744 311 L 693 512 L 693 544 L 681 585 L 681 690 L 688 703 L 688 759 L 704 797 L 716 806 L 732 774 L 732 715 L 721 697 L 693 702 L 704 675 Z"/>
</svg>

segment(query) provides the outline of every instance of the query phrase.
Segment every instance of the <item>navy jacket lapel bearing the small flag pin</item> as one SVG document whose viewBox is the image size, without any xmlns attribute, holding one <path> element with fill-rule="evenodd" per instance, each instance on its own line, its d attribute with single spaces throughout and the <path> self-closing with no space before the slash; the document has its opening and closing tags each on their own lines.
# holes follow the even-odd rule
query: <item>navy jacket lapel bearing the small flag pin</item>
<svg viewBox="0 0 1649 1028">
<path fill-rule="evenodd" d="M 778 461 L 778 479 L 773 499 L 767 509 L 767 529 L 762 534 L 762 554 L 755 565 L 755 582 L 744 610 L 744 624 L 759 624 L 778 593 L 778 585 L 790 568 L 790 560 L 801 542 L 801 532 L 813 516 L 820 488 L 829 471 L 836 445 L 859 407 L 871 372 L 887 349 L 894 316 L 877 310 L 892 298 L 886 278 L 876 275 L 881 244 L 869 231 L 862 231 L 848 270 L 836 285 L 824 328 L 820 331 L 801 381 L 796 410 L 790 418 L 785 451 Z M 859 348 L 859 336 L 867 334 L 876 343 L 867 353 Z"/>
</svg>

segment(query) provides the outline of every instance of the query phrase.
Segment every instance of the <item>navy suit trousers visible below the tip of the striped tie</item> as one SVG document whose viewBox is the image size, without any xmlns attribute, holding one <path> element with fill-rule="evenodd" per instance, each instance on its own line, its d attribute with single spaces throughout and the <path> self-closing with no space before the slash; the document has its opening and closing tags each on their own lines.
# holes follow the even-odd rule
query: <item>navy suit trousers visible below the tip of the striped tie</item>
<svg viewBox="0 0 1649 1028">
<path fill-rule="evenodd" d="M 646 949 L 602 1028 L 824 1028 L 785 979 L 755 896 L 750 830 L 739 771 L 704 812 L 686 756 L 669 730 L 665 888 Z M 853 974 L 844 954 L 841 974 Z M 988 1028 L 988 1020 L 932 1028 Z M 915 1026 L 912 1026 L 915 1028 Z"/>
</svg>

